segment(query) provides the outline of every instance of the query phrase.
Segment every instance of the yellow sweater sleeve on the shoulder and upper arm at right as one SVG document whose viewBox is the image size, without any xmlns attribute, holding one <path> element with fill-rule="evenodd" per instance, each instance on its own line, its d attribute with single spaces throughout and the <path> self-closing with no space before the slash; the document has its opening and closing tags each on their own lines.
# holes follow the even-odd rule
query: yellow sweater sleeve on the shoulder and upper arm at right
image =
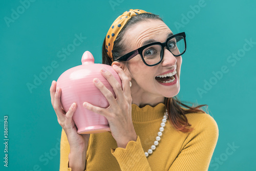
<svg viewBox="0 0 256 171">
<path fill-rule="evenodd" d="M 169 170 L 207 170 L 219 137 L 216 121 L 207 115 L 185 140 L 185 145 Z"/>
</svg>

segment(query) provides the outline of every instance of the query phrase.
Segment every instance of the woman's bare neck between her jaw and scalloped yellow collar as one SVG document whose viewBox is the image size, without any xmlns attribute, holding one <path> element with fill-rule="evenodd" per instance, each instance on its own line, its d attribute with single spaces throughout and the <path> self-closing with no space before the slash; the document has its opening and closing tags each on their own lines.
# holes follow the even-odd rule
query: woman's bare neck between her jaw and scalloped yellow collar
<svg viewBox="0 0 256 171">
<path fill-rule="evenodd" d="M 150 105 L 152 107 L 156 106 L 159 103 L 164 103 L 163 96 L 156 96 L 151 93 L 145 92 L 142 89 L 131 88 L 133 104 L 136 104 L 140 108 L 143 108 L 145 105 Z"/>
</svg>

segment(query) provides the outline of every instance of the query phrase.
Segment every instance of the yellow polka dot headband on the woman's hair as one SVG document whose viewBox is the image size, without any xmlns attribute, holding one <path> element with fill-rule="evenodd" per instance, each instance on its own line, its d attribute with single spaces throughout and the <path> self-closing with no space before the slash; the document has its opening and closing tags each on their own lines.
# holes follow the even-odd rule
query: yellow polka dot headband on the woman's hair
<svg viewBox="0 0 256 171">
<path fill-rule="evenodd" d="M 122 28 L 126 24 L 127 20 L 129 20 L 131 17 L 141 14 L 141 13 L 147 13 L 147 12 L 144 10 L 130 9 L 129 11 L 125 11 L 122 15 L 118 16 L 116 18 L 115 22 L 111 25 L 111 27 L 108 31 L 108 34 L 106 34 L 105 49 L 106 49 L 106 53 L 108 53 L 112 62 L 113 62 L 112 50 L 113 50 L 114 42 L 116 40 L 117 35 L 122 30 Z"/>
</svg>

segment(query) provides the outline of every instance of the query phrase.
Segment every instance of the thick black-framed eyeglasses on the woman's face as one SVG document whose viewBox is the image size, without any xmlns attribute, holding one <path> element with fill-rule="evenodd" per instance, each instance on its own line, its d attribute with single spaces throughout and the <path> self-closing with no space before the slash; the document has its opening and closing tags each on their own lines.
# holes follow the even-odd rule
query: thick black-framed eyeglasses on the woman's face
<svg viewBox="0 0 256 171">
<path fill-rule="evenodd" d="M 117 60 L 127 61 L 132 59 L 134 56 L 140 54 L 141 59 L 146 66 L 152 67 L 158 65 L 163 59 L 164 48 L 174 56 L 180 56 L 186 51 L 186 34 L 185 32 L 175 34 L 166 39 L 165 42 L 153 42 L 129 52 Z"/>
</svg>

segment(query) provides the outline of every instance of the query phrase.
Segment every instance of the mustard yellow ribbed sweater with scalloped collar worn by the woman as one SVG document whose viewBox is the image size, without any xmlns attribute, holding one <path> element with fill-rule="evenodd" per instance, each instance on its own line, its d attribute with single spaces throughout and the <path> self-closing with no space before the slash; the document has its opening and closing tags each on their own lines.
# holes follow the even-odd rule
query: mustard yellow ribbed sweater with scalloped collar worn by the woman
<svg viewBox="0 0 256 171">
<path fill-rule="evenodd" d="M 169 118 L 163 135 L 153 154 L 145 157 L 154 144 L 165 112 L 163 103 L 154 108 L 139 108 L 132 104 L 132 119 L 137 141 L 130 141 L 126 148 L 117 147 L 110 132 L 91 134 L 87 151 L 87 171 L 103 170 L 207 170 L 217 144 L 219 130 L 214 118 L 206 113 L 186 114 L 194 131 L 182 133 L 170 124 Z M 120 128 L 121 129 L 121 128 Z M 70 146 L 62 129 L 60 142 L 60 170 L 69 168 Z"/>
</svg>

